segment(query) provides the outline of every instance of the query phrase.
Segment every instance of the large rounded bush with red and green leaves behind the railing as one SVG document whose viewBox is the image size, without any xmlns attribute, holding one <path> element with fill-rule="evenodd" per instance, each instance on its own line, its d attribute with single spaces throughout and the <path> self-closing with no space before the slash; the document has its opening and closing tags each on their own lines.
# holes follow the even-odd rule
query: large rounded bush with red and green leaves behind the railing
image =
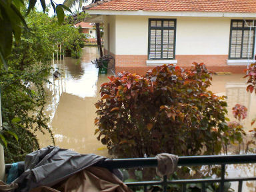
<svg viewBox="0 0 256 192">
<path fill-rule="evenodd" d="M 95 134 L 117 157 L 214 155 L 228 131 L 225 97 L 207 88 L 211 73 L 163 65 L 145 76 L 119 73 L 101 85 Z"/>
</svg>

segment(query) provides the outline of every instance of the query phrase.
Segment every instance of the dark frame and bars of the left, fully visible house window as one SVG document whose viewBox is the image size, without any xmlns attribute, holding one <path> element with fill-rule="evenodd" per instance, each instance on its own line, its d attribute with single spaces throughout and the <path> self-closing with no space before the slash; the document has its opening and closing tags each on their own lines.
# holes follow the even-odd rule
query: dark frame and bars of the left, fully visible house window
<svg viewBox="0 0 256 192">
<path fill-rule="evenodd" d="M 159 27 L 151 27 L 151 21 L 161 21 L 161 28 Z M 163 27 L 163 21 L 174 21 L 174 27 Z M 162 33 L 161 33 L 161 58 L 154 58 L 151 59 L 149 57 L 150 54 L 150 45 L 151 45 L 151 29 L 152 28 L 157 28 L 157 29 L 161 29 Z M 163 58 L 163 29 L 174 29 L 174 34 L 173 34 L 173 58 L 169 59 L 169 58 Z M 154 18 L 150 18 L 149 19 L 149 32 L 148 32 L 148 49 L 147 49 L 147 59 L 148 60 L 174 60 L 176 55 L 175 55 L 175 51 L 176 51 L 176 29 L 177 29 L 177 19 L 154 19 Z"/>
</svg>

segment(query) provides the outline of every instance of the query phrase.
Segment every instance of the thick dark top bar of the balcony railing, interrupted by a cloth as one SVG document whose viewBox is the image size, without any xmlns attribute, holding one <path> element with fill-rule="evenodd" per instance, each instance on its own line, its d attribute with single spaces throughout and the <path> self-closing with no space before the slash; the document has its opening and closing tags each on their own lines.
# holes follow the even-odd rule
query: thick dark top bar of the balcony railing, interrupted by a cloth
<svg viewBox="0 0 256 192">
<path fill-rule="evenodd" d="M 256 155 L 209 155 L 179 157 L 178 166 L 238 163 L 256 163 Z M 104 167 L 113 168 L 157 167 L 157 159 L 155 157 L 136 159 L 106 159 L 103 164 Z"/>
</svg>

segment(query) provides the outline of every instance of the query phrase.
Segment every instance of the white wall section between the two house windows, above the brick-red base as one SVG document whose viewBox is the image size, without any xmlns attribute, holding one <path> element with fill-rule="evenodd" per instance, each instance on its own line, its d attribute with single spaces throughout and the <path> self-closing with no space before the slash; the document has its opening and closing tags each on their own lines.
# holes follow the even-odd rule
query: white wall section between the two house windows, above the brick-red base
<svg viewBox="0 0 256 192">
<path fill-rule="evenodd" d="M 228 55 L 229 18 L 177 18 L 176 55 Z"/>
</svg>

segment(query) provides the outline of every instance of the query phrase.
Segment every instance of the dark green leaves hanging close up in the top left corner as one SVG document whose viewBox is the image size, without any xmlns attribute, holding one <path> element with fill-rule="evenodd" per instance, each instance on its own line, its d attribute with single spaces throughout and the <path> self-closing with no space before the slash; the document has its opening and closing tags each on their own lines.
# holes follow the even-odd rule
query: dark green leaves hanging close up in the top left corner
<svg viewBox="0 0 256 192">
<path fill-rule="evenodd" d="M 21 38 L 21 31 L 23 27 L 28 30 L 27 23 L 22 14 L 22 11 L 25 10 L 25 3 L 27 1 L 23 0 L 5 0 L 0 1 L 0 62 L 5 65 L 7 68 L 7 56 L 11 54 L 11 48 L 13 45 L 13 36 L 15 37 L 16 43 L 19 43 Z M 35 7 L 37 0 L 29 0 L 27 15 Z M 45 12 L 46 5 L 45 0 L 40 0 L 43 12 Z M 64 19 L 63 9 L 71 12 L 71 10 L 65 5 L 57 4 L 51 0 L 51 6 L 57 17 L 59 23 L 61 24 Z"/>
</svg>

